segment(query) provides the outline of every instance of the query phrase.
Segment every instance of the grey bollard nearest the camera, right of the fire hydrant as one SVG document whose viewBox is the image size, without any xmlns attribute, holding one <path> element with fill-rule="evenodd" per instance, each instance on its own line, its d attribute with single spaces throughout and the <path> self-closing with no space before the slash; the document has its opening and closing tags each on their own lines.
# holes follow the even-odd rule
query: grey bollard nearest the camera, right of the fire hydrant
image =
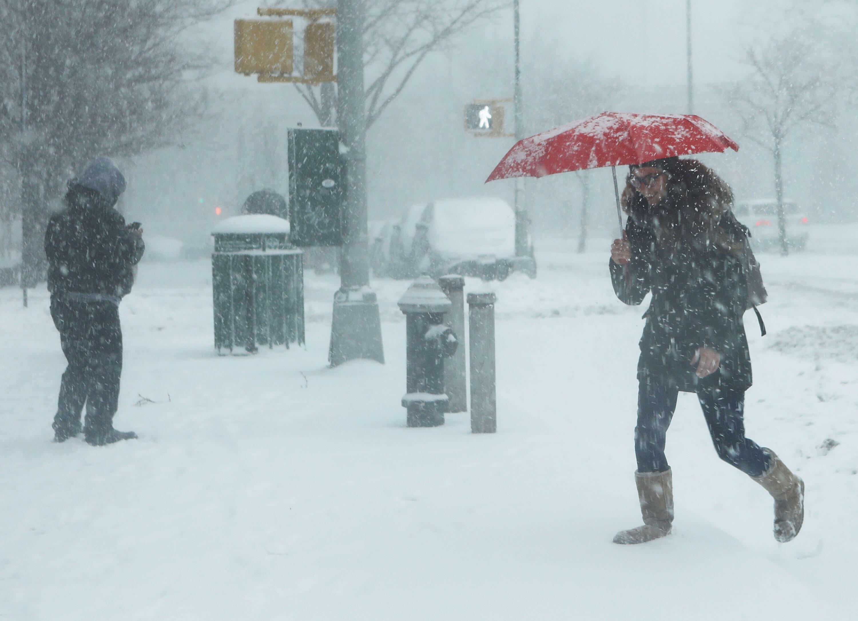
<svg viewBox="0 0 858 621">
<path fill-rule="evenodd" d="M 498 429 L 494 379 L 493 293 L 468 294 L 468 343 L 471 349 L 471 432 Z"/>
</svg>

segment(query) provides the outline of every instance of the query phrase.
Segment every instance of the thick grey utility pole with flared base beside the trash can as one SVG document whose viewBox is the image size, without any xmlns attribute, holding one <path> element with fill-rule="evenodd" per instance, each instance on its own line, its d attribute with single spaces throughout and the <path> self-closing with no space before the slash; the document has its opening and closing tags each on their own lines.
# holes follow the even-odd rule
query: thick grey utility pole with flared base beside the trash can
<svg viewBox="0 0 858 621">
<path fill-rule="evenodd" d="M 364 21 L 366 0 L 338 0 L 337 125 L 346 166 L 346 240 L 342 247 L 340 290 L 334 296 L 329 362 L 356 358 L 384 362 L 381 319 L 369 287 L 369 232 L 366 224 L 366 112 Z"/>
</svg>

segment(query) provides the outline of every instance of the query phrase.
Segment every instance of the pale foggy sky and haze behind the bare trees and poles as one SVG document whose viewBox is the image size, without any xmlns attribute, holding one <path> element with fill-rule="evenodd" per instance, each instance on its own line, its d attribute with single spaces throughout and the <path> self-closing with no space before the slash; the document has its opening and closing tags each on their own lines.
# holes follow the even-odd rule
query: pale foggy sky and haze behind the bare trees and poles
<svg viewBox="0 0 858 621">
<path fill-rule="evenodd" d="M 205 48 L 212 61 L 204 76 L 190 77 L 202 92 L 204 113 L 172 136 L 172 146 L 117 158 L 129 180 L 119 205 L 126 219 L 143 222 L 148 235 L 183 240 L 190 254 L 208 253 L 216 208 L 221 217 L 234 215 L 263 187 L 287 194 L 287 128 L 317 126 L 293 85 L 261 84 L 233 71 L 233 20 L 256 15 L 258 5 L 239 3 L 182 35 L 183 46 Z M 852 3 L 692 2 L 693 112 L 741 146 L 738 154 L 702 159 L 738 200 L 774 197 L 772 158 L 745 137 L 724 92 L 749 75 L 744 48 L 801 21 L 797 6 L 817 20 L 829 16 L 832 28 L 813 33 L 812 44 L 825 48 L 832 63 L 851 64 L 849 47 L 834 41 L 855 21 Z M 525 135 L 603 110 L 687 112 L 685 0 L 522 0 L 521 11 Z M 514 140 L 473 137 L 462 119 L 462 108 L 474 99 L 511 97 L 512 80 L 511 6 L 430 54 L 369 130 L 371 220 L 399 219 L 409 204 L 433 198 L 497 196 L 512 203 L 513 181 L 483 181 Z M 834 123 L 807 125 L 784 147 L 785 197 L 798 201 L 813 222 L 855 216 L 846 181 L 855 159 L 855 108 L 846 90 Z M 505 131 L 513 131 L 512 120 L 510 104 Z M 543 231 L 577 233 L 583 183 L 590 188 L 591 230 L 607 233 L 614 226 L 609 170 L 527 180 L 537 245 Z M 14 203 L 12 194 L 4 202 Z"/>
</svg>

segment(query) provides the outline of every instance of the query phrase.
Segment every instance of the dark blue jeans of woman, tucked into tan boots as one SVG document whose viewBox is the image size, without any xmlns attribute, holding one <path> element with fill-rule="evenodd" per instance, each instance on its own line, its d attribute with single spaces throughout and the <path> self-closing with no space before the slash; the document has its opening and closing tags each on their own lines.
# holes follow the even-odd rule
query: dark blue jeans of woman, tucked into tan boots
<svg viewBox="0 0 858 621">
<path fill-rule="evenodd" d="M 678 393 L 667 382 L 640 381 L 635 427 L 637 472 L 665 472 L 670 467 L 664 443 Z M 710 388 L 698 392 L 698 399 L 718 457 L 752 477 L 765 472 L 769 456 L 745 437 L 745 392 Z"/>
</svg>

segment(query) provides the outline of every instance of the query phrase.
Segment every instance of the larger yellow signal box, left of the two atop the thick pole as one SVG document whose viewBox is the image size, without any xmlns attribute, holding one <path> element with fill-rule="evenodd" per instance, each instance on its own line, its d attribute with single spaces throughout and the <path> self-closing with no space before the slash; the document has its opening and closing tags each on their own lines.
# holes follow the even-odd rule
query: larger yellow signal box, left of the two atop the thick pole
<svg viewBox="0 0 858 621">
<path fill-rule="evenodd" d="M 292 69 L 292 20 L 235 21 L 236 73 L 288 76 Z"/>
</svg>

